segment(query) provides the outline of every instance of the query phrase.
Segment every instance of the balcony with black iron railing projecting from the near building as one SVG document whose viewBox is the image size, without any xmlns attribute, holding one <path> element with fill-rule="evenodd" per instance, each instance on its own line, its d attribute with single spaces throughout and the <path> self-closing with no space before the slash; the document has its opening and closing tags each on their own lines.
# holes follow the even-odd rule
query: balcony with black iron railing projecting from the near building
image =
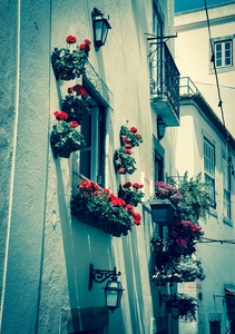
<svg viewBox="0 0 235 334">
<path fill-rule="evenodd" d="M 150 53 L 150 95 L 166 126 L 179 126 L 179 71 L 166 43 L 157 43 Z"/>
</svg>

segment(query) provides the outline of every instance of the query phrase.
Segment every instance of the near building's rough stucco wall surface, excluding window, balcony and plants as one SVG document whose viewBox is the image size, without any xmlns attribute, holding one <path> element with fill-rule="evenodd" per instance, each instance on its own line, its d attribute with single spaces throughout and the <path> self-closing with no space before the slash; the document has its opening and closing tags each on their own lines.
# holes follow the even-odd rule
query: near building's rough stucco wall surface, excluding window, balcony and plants
<svg viewBox="0 0 235 334">
<path fill-rule="evenodd" d="M 10 31 L 13 48 L 10 56 L 7 51 L 3 53 L 4 61 L 17 55 L 18 67 L 12 63 L 13 73 L 10 68 L 6 76 L 14 98 L 11 101 L 4 98 L 4 105 L 6 110 L 8 106 L 11 110 L 9 117 L 12 125 L 16 122 L 16 131 L 7 136 L 9 157 L 6 164 L 1 163 L 7 178 L 12 167 L 13 178 L 11 185 L 1 181 L 2 188 L 7 189 L 6 197 L 12 194 L 12 202 L 10 209 L 6 208 L 8 203 L 3 207 L 7 217 L 3 220 L 0 332 L 65 333 L 66 324 L 61 324 L 61 320 L 66 310 L 102 306 L 101 285 L 95 284 L 88 292 L 89 264 L 94 263 L 95 268 L 112 269 L 117 266 L 121 272 L 125 288 L 121 307 L 110 314 L 108 333 L 150 333 L 154 313 L 158 314 L 153 310 L 153 303 L 158 303 L 158 289 L 153 295 L 149 283 L 149 238 L 153 232 L 149 214 L 141 226 L 134 226 L 133 233 L 121 238 L 111 237 L 71 217 L 70 195 L 79 154 L 71 155 L 69 160 L 55 159 L 49 138 L 56 122 L 53 112 L 60 109 L 67 87 L 76 82 L 56 81 L 51 52 L 55 47 L 66 46 L 68 35 L 76 36 L 78 43 L 85 38 L 92 41 L 91 11 L 98 7 L 106 17 L 109 14 L 112 28 L 105 47 L 96 52 L 92 46 L 89 58 L 110 90 L 110 99 L 107 98 L 106 187 L 117 194 L 120 181 L 144 180 L 153 190 L 151 140 L 153 132 L 156 134 L 156 119 L 151 117 L 149 105 L 148 42 L 145 36 L 151 31 L 151 2 L 53 0 L 45 3 L 23 0 L 11 1 L 11 4 L 10 10 L 7 1 L 1 3 L 8 12 L 6 22 L 11 22 L 12 16 L 16 22 L 16 30 Z M 168 0 L 160 1 L 160 4 L 166 35 L 170 35 L 174 3 Z M 6 46 L 7 42 L 4 40 Z M 19 86 L 16 87 L 17 70 Z M 13 79 L 10 79 L 11 75 Z M 134 149 L 137 171 L 133 176 L 117 176 L 112 155 L 119 147 L 119 130 L 126 119 L 128 125 L 138 128 L 144 144 Z M 7 121 L 3 134 L 6 129 Z M 172 136 L 167 129 L 165 144 L 163 141 L 168 174 L 174 170 Z M 14 139 L 14 164 L 11 165 Z M 140 206 L 138 212 L 141 214 Z M 160 311 L 160 316 L 165 316 L 165 310 Z"/>
</svg>

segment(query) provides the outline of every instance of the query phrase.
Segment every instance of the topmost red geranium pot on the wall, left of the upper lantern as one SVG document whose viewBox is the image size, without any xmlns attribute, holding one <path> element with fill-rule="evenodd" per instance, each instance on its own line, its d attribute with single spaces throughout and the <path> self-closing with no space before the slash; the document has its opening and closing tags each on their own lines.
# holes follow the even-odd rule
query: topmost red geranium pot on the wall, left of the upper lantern
<svg viewBox="0 0 235 334">
<path fill-rule="evenodd" d="M 56 79 L 72 80 L 85 73 L 85 65 L 88 61 L 91 42 L 86 39 L 82 45 L 72 49 L 76 43 L 76 37 L 68 36 L 67 48 L 55 48 L 51 56 L 51 62 Z"/>
</svg>

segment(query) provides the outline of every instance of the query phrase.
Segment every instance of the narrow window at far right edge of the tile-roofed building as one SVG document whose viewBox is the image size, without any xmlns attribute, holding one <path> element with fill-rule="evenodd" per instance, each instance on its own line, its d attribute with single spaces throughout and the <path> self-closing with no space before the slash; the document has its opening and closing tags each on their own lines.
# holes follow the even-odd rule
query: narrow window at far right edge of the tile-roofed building
<svg viewBox="0 0 235 334">
<path fill-rule="evenodd" d="M 229 164 L 223 157 L 224 217 L 231 218 L 231 173 Z"/>
</svg>

